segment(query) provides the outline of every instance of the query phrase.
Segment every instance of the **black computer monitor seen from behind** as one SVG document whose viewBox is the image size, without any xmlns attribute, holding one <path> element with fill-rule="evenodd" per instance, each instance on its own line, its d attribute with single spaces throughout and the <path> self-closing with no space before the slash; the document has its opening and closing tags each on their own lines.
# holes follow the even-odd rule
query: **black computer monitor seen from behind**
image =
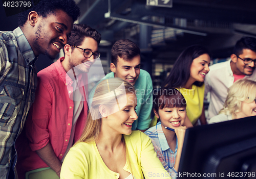
<svg viewBox="0 0 256 179">
<path fill-rule="evenodd" d="M 256 178 L 256 116 L 186 130 L 177 178 Z"/>
</svg>

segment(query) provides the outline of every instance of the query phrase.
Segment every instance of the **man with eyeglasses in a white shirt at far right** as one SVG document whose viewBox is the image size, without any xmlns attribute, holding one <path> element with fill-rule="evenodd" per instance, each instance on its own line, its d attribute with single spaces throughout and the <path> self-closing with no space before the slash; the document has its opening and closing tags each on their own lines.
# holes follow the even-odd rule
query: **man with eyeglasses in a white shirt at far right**
<svg viewBox="0 0 256 179">
<path fill-rule="evenodd" d="M 243 37 L 237 41 L 230 60 L 210 66 L 205 77 L 205 96 L 210 92 L 207 120 L 219 114 L 227 97 L 227 89 L 239 79 L 256 81 L 256 39 Z"/>
</svg>

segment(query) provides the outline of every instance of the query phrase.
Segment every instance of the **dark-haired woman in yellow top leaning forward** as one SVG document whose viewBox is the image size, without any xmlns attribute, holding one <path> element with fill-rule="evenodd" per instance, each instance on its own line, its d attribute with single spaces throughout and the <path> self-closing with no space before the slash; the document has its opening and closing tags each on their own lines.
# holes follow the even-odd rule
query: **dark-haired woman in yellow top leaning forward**
<svg viewBox="0 0 256 179">
<path fill-rule="evenodd" d="M 189 46 L 180 54 L 162 86 L 177 88 L 182 93 L 187 103 L 187 117 L 193 125 L 197 124 L 198 119 L 201 124 L 206 124 L 203 82 L 209 72 L 209 63 L 210 56 L 206 48 L 200 45 Z"/>
</svg>

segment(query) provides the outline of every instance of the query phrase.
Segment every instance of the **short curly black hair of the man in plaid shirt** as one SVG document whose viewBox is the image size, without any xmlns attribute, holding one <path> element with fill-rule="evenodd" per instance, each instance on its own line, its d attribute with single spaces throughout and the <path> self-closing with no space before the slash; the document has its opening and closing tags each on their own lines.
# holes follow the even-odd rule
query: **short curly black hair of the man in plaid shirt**
<svg viewBox="0 0 256 179">
<path fill-rule="evenodd" d="M 28 15 L 31 11 L 37 12 L 39 16 L 47 17 L 53 14 L 57 9 L 66 12 L 73 21 L 76 21 L 80 15 L 80 9 L 74 0 L 33 0 L 31 2 L 32 8 L 24 7 L 20 9 L 18 14 L 18 25 L 23 25 L 28 20 Z"/>
</svg>

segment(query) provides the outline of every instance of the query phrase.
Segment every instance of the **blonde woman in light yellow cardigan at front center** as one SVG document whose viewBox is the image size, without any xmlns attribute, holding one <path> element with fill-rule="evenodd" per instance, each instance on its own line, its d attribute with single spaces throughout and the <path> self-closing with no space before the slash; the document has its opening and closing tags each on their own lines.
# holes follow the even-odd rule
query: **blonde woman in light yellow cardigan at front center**
<svg viewBox="0 0 256 179">
<path fill-rule="evenodd" d="M 170 178 L 149 137 L 132 131 L 138 118 L 134 87 L 121 79 L 96 88 L 81 138 L 69 150 L 60 178 Z"/>
</svg>

